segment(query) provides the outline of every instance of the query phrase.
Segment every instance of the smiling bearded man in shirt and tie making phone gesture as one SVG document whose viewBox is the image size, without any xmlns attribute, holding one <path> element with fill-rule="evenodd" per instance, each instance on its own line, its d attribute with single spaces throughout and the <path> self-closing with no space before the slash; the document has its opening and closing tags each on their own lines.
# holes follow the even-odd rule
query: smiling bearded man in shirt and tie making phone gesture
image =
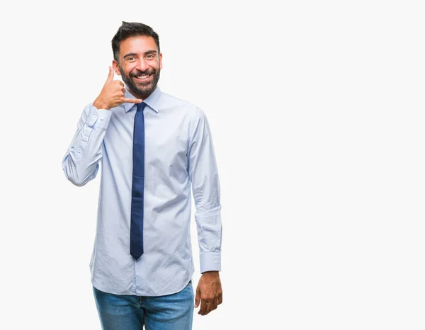
<svg viewBox="0 0 425 330">
<path fill-rule="evenodd" d="M 102 164 L 91 281 L 103 329 L 191 329 L 222 303 L 220 182 L 208 120 L 160 91 L 159 37 L 123 24 L 101 93 L 84 108 L 62 168 L 77 186 Z M 113 80 L 114 72 L 122 76 Z M 202 273 L 191 277 L 191 189 Z"/>
</svg>

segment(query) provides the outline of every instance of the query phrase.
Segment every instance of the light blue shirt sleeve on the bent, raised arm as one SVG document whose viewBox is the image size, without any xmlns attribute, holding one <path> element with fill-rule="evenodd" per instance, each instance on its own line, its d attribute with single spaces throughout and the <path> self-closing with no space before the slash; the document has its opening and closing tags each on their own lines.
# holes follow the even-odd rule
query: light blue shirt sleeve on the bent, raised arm
<svg viewBox="0 0 425 330">
<path fill-rule="evenodd" d="M 62 169 L 69 181 L 84 186 L 96 178 L 102 158 L 102 142 L 112 111 L 98 109 L 89 103 L 81 114 L 77 132 L 62 160 Z"/>
</svg>

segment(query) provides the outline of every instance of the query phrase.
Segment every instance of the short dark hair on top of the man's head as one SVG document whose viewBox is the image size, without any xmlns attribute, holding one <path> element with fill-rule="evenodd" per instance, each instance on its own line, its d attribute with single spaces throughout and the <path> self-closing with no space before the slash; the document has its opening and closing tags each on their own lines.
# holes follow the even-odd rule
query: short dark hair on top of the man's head
<svg viewBox="0 0 425 330">
<path fill-rule="evenodd" d="M 118 61 L 120 58 L 120 42 L 130 37 L 136 37 L 137 35 L 145 35 L 147 37 L 154 38 L 158 47 L 158 53 L 161 52 L 159 50 L 159 35 L 154 30 L 152 30 L 150 26 L 143 23 L 128 23 L 123 21 L 123 24 L 120 26 L 118 32 L 113 36 L 111 41 L 113 58 L 115 61 L 120 62 Z"/>
</svg>

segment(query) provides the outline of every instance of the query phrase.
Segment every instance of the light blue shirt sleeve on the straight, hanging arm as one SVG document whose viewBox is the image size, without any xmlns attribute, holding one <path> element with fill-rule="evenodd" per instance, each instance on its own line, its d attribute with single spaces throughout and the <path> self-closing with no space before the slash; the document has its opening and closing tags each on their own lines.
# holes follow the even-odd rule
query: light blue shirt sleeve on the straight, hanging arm
<svg viewBox="0 0 425 330">
<path fill-rule="evenodd" d="M 200 108 L 191 121 L 188 173 L 196 206 L 200 273 L 221 271 L 220 180 L 208 120 Z"/>
</svg>

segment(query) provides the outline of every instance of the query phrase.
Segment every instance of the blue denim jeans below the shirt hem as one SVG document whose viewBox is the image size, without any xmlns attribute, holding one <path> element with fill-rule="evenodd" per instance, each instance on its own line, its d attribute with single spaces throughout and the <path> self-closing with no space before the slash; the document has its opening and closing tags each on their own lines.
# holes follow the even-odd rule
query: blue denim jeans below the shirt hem
<svg viewBox="0 0 425 330">
<path fill-rule="evenodd" d="M 103 330 L 191 330 L 192 281 L 172 295 L 140 297 L 113 295 L 93 287 Z"/>
</svg>

